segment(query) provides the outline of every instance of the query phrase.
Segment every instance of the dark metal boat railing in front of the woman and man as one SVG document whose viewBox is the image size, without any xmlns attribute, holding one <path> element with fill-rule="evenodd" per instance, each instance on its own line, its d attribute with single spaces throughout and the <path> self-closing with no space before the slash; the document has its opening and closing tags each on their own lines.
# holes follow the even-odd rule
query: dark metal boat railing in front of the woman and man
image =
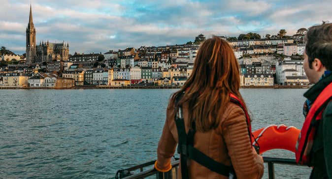
<svg viewBox="0 0 332 179">
<path fill-rule="evenodd" d="M 274 164 L 301 166 L 296 163 L 295 159 L 273 158 L 273 157 L 263 157 L 263 159 L 264 162 L 267 163 L 268 179 L 275 179 Z M 114 179 L 144 179 L 151 176 L 155 176 L 156 179 L 176 179 L 179 160 L 172 161 L 171 162 L 172 169 L 169 172 L 165 173 L 155 170 L 153 168 L 154 162 L 155 161 L 151 161 L 125 170 L 119 170 Z M 144 168 L 147 167 L 149 167 L 149 169 L 143 170 Z M 139 170 L 139 173 L 134 174 L 133 172 L 136 170 Z"/>
</svg>

